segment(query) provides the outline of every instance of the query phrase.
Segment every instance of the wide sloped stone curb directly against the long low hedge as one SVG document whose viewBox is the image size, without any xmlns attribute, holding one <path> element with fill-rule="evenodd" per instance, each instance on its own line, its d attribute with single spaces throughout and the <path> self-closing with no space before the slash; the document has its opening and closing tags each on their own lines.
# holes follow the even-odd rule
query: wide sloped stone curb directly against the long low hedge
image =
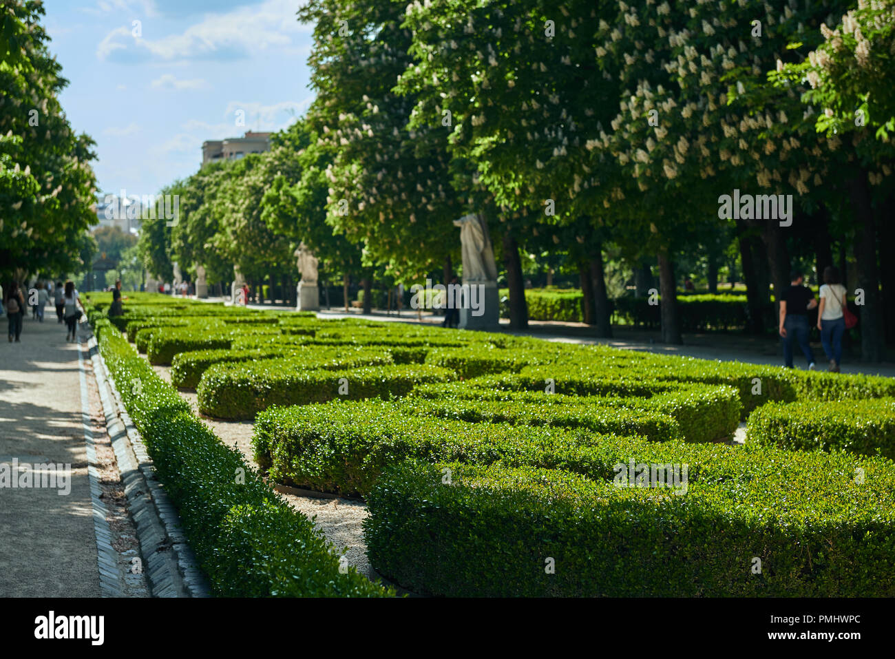
<svg viewBox="0 0 895 659">
<path fill-rule="evenodd" d="M 208 597 L 208 582 L 183 535 L 177 509 L 158 481 L 140 432 L 124 409 L 115 381 L 108 375 L 106 362 L 99 354 L 97 340 L 92 334 L 88 345 L 152 595 Z"/>
</svg>

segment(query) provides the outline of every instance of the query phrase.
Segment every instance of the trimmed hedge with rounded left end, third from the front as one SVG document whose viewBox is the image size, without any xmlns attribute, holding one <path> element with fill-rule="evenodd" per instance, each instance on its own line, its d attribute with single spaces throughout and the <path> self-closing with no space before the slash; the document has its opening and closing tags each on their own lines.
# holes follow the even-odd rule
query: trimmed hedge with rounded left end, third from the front
<svg viewBox="0 0 895 659">
<path fill-rule="evenodd" d="M 388 365 L 373 365 L 388 364 Z M 196 393 L 204 415 L 252 419 L 272 405 L 305 405 L 345 398 L 404 396 L 422 382 L 447 381 L 453 372 L 426 364 L 391 364 L 391 355 L 359 351 L 331 369 L 306 369 L 301 360 L 265 359 L 253 364 L 215 364 Z M 340 389 L 347 389 L 340 394 Z"/>
</svg>

